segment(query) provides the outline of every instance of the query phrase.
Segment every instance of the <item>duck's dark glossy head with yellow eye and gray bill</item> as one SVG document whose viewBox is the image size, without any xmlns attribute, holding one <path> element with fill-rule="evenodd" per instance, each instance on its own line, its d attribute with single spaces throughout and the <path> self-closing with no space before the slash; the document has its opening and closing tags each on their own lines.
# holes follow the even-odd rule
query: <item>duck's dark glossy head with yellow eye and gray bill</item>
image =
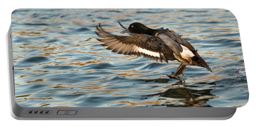
<svg viewBox="0 0 256 128">
<path fill-rule="evenodd" d="M 132 23 L 130 26 L 126 29 L 121 31 L 120 33 L 136 33 L 136 34 L 147 34 L 151 31 L 151 28 L 148 28 L 142 23 Z"/>
</svg>

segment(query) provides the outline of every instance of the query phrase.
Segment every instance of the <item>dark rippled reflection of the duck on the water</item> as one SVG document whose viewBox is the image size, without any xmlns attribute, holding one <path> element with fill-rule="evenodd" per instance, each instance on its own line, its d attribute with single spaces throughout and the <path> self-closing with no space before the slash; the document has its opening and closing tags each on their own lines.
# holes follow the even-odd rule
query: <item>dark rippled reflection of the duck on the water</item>
<svg viewBox="0 0 256 128">
<path fill-rule="evenodd" d="M 155 79 L 153 81 L 160 82 L 160 83 L 162 82 L 167 83 L 169 80 L 166 79 L 166 81 L 164 81 L 163 79 Z M 214 82 L 211 82 L 211 83 L 202 82 L 199 84 L 202 84 L 202 85 L 209 84 L 209 85 L 215 86 Z M 145 98 L 148 99 L 151 97 L 161 97 L 158 99 L 158 101 L 164 101 L 164 100 L 167 100 L 168 98 L 175 99 L 174 103 L 167 101 L 163 104 L 153 105 L 153 106 L 166 106 L 166 107 L 212 107 L 211 105 L 206 104 L 206 102 L 209 101 L 209 99 L 218 98 L 217 96 L 211 94 L 211 90 L 213 90 L 214 87 L 198 90 L 199 89 L 198 87 L 190 86 L 187 83 L 184 83 L 183 81 L 178 81 L 172 84 L 172 86 L 174 86 L 174 88 L 170 88 L 164 92 L 150 94 L 150 95 L 142 95 L 141 97 L 142 99 L 145 99 Z"/>
</svg>

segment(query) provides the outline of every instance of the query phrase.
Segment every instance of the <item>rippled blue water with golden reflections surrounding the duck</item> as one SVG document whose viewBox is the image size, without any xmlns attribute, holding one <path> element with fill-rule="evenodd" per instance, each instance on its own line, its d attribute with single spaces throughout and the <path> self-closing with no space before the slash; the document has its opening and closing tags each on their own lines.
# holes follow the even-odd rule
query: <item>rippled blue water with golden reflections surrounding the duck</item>
<svg viewBox="0 0 256 128">
<path fill-rule="evenodd" d="M 213 68 L 106 50 L 98 23 L 141 22 L 183 35 Z M 12 14 L 16 102 L 23 107 L 239 107 L 249 93 L 235 16 L 225 9 L 18 9 Z"/>
</svg>

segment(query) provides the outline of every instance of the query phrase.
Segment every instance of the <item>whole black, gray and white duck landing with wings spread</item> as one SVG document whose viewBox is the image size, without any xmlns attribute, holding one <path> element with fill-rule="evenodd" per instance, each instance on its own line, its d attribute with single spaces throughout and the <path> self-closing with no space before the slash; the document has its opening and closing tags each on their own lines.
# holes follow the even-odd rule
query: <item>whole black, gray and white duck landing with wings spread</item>
<svg viewBox="0 0 256 128">
<path fill-rule="evenodd" d="M 168 28 L 148 28 L 139 22 L 131 23 L 128 28 L 124 27 L 119 20 L 118 23 L 125 29 L 120 33 L 128 33 L 129 36 L 113 35 L 105 31 L 100 23 L 96 26 L 95 33 L 101 37 L 97 40 L 103 42 L 100 45 L 106 46 L 107 50 L 123 55 L 143 56 L 160 62 L 168 63 L 177 60 L 181 64 L 173 74 L 167 75 L 169 77 L 177 78 L 181 74 L 184 76 L 183 72 L 189 65 L 203 67 L 214 72 L 198 54 L 197 49 L 181 38 L 182 35 L 176 34 Z"/>
</svg>

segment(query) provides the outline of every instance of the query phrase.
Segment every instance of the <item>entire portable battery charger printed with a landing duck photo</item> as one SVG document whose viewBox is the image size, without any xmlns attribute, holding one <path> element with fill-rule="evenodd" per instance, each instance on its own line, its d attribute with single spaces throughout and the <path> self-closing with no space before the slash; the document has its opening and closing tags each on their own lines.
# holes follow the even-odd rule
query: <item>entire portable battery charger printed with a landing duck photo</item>
<svg viewBox="0 0 256 128">
<path fill-rule="evenodd" d="M 226 120 L 249 98 L 226 9 L 16 9 L 18 120 Z"/>
</svg>

